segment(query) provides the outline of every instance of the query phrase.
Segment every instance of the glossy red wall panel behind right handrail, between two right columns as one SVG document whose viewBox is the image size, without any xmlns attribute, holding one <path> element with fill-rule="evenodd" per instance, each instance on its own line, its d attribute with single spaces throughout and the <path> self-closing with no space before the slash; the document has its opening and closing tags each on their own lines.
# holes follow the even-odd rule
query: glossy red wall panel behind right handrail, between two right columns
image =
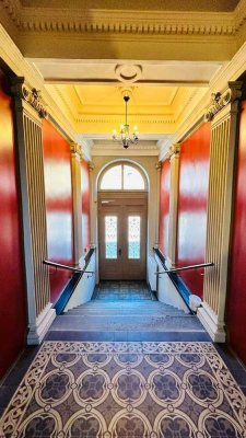
<svg viewBox="0 0 246 438">
<path fill-rule="evenodd" d="M 210 124 L 181 145 L 178 194 L 177 265 L 204 262 L 210 157 Z M 203 269 L 180 273 L 191 293 L 202 297 Z"/>
</svg>

